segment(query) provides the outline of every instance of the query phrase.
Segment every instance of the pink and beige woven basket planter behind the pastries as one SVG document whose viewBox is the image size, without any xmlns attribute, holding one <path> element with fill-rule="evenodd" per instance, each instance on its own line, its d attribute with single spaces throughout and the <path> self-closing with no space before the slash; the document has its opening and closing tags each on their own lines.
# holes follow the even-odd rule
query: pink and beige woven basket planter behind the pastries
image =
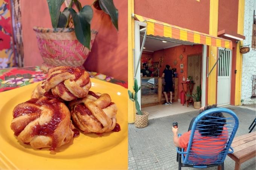
<svg viewBox="0 0 256 170">
<path fill-rule="evenodd" d="M 41 69 L 56 66 L 73 66 L 83 68 L 90 50 L 82 45 L 75 35 L 73 28 L 41 28 L 34 27 L 40 54 L 43 58 Z M 97 32 L 91 30 L 90 48 L 93 45 Z"/>
</svg>

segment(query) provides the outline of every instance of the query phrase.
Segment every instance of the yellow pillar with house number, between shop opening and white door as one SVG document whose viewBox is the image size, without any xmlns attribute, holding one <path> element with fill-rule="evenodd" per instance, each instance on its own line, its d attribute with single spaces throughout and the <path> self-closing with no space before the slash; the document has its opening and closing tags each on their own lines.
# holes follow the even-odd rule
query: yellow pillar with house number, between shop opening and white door
<svg viewBox="0 0 256 170">
<path fill-rule="evenodd" d="M 210 0 L 209 34 L 217 36 L 218 33 L 218 6 L 219 0 Z M 217 60 L 217 47 L 209 46 L 209 70 Z M 216 104 L 216 66 L 208 77 L 208 104 Z"/>
</svg>

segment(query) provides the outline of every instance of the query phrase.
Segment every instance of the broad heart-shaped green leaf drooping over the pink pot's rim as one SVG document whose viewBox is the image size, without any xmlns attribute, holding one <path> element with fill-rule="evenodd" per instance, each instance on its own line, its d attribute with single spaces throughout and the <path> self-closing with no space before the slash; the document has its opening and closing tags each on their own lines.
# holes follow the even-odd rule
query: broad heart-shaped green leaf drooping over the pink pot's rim
<svg viewBox="0 0 256 170">
<path fill-rule="evenodd" d="M 80 12 L 69 8 L 75 27 L 75 34 L 78 41 L 90 50 L 91 41 L 91 19 L 93 18 L 93 9 L 91 6 L 84 6 Z"/>
</svg>

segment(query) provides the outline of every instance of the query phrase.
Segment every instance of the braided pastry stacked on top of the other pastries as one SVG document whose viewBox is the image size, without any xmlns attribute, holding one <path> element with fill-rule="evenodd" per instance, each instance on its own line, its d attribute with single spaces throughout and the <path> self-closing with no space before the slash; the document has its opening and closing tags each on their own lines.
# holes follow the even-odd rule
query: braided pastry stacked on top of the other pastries
<svg viewBox="0 0 256 170">
<path fill-rule="evenodd" d="M 91 88 L 88 72 L 84 69 L 59 66 L 48 70 L 44 90 L 65 101 L 84 98 Z"/>
</svg>

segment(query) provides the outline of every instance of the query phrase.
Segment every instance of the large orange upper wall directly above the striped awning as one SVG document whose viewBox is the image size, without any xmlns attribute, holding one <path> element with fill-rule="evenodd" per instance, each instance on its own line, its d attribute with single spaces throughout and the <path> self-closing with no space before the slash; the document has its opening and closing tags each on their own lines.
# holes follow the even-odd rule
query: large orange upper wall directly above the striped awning
<svg viewBox="0 0 256 170">
<path fill-rule="evenodd" d="M 209 0 L 134 0 L 134 13 L 186 29 L 209 33 Z"/>
</svg>

